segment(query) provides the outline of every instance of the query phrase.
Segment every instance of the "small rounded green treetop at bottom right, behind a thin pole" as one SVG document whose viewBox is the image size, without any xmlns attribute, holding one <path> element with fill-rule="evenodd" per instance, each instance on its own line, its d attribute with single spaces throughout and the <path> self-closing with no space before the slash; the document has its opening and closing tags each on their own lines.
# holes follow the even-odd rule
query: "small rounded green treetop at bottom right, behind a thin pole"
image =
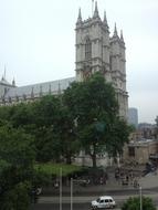
<svg viewBox="0 0 158 210">
<path fill-rule="evenodd" d="M 139 210 L 139 209 L 140 209 L 139 197 L 129 198 L 122 207 L 122 210 Z M 156 210 L 156 207 L 151 198 L 143 197 L 143 210 Z"/>
</svg>

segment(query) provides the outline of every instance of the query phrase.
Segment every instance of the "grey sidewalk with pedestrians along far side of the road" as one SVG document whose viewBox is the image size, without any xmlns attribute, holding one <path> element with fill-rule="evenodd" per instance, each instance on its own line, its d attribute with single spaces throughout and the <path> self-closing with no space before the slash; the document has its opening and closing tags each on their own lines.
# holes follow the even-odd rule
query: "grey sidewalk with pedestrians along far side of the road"
<svg viewBox="0 0 158 210">
<path fill-rule="evenodd" d="M 149 174 L 145 177 L 140 177 L 138 180 L 139 186 L 143 190 L 156 189 L 158 188 L 158 175 Z M 122 182 L 115 179 L 114 174 L 112 174 L 106 182 L 106 185 L 87 185 L 86 187 L 80 186 L 78 183 L 73 182 L 73 193 L 74 196 L 87 196 L 87 195 L 103 195 L 103 193 L 115 193 L 118 195 L 120 192 L 125 193 L 125 191 L 138 191 L 139 188 L 134 188 L 133 185 L 123 186 Z M 71 187 L 63 186 L 62 187 L 63 196 L 70 196 Z M 158 190 L 155 190 L 158 192 Z M 44 196 L 57 196 L 59 189 L 50 188 L 45 192 Z M 43 196 L 42 195 L 42 196 Z"/>
</svg>

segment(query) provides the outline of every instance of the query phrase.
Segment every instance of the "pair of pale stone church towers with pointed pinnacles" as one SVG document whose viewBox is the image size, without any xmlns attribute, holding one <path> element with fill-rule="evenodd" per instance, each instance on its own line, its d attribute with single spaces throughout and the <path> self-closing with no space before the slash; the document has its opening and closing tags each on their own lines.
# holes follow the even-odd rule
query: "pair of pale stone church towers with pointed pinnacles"
<svg viewBox="0 0 158 210">
<path fill-rule="evenodd" d="M 128 94 L 126 92 L 126 56 L 123 32 L 115 30 L 109 36 L 109 28 L 104 13 L 99 18 L 97 2 L 92 18 L 82 20 L 81 9 L 76 22 L 76 80 L 83 81 L 94 72 L 102 72 L 112 82 L 119 104 L 119 116 L 126 118 Z"/>
</svg>

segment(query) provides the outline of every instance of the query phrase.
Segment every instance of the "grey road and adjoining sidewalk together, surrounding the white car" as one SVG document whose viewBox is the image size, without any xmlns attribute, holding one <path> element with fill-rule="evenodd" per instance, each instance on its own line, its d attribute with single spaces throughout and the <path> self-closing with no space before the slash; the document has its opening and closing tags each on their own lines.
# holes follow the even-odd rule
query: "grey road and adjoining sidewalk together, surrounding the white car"
<svg viewBox="0 0 158 210">
<path fill-rule="evenodd" d="M 143 196 L 150 197 L 155 204 L 158 207 L 158 172 L 150 172 L 145 177 L 138 178 L 139 186 L 141 187 Z M 62 189 L 62 203 L 63 210 L 70 210 L 71 202 L 71 189 L 70 187 L 63 186 Z M 112 196 L 116 203 L 118 203 L 118 208 L 115 210 L 120 210 L 122 203 L 127 200 L 131 196 L 139 196 L 140 188 L 134 188 L 133 185 L 123 186 L 119 180 L 116 180 L 114 177 L 114 172 L 109 175 L 108 181 L 106 185 L 97 185 L 97 186 L 86 186 L 82 187 L 76 183 L 73 185 L 73 204 L 75 210 L 88 210 L 89 203 L 92 200 L 96 199 L 98 196 L 108 195 Z M 41 195 L 35 204 L 35 210 L 57 210 L 60 203 L 59 189 L 56 189 L 55 193 Z M 157 208 L 158 209 L 158 208 Z"/>
</svg>

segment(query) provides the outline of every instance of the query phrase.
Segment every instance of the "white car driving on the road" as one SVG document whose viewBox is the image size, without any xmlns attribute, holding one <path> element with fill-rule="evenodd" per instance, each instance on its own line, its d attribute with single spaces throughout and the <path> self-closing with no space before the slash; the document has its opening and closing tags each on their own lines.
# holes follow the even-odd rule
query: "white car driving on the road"
<svg viewBox="0 0 158 210">
<path fill-rule="evenodd" d="M 116 202 L 110 196 L 102 196 L 91 202 L 92 209 L 109 209 L 115 208 Z"/>
</svg>

